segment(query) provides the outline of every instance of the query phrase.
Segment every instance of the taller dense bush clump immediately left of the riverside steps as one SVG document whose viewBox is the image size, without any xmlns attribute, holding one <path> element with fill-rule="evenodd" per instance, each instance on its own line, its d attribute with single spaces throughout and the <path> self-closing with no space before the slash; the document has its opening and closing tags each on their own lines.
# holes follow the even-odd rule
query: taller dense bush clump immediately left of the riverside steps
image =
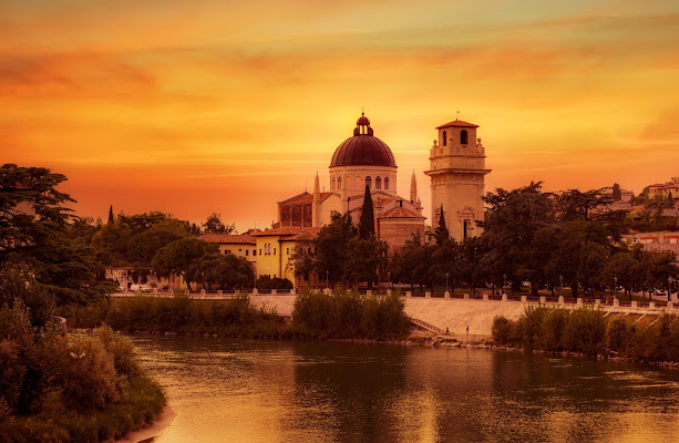
<svg viewBox="0 0 679 443">
<path fill-rule="evenodd" d="M 318 338 L 385 340 L 408 332 L 404 307 L 397 293 L 363 297 L 354 290 L 336 289 L 332 295 L 308 290 L 295 298 L 292 319 Z"/>
</svg>

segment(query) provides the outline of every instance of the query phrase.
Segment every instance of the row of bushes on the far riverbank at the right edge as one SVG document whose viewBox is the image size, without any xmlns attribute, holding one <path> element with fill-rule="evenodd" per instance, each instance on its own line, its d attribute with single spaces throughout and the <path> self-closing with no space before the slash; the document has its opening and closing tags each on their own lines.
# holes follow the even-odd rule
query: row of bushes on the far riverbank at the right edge
<svg viewBox="0 0 679 443">
<path fill-rule="evenodd" d="M 679 362 L 679 317 L 675 315 L 663 313 L 641 326 L 626 318 L 607 319 L 599 310 L 527 308 L 516 321 L 495 317 L 492 334 L 497 344 L 526 350 Z"/>
</svg>

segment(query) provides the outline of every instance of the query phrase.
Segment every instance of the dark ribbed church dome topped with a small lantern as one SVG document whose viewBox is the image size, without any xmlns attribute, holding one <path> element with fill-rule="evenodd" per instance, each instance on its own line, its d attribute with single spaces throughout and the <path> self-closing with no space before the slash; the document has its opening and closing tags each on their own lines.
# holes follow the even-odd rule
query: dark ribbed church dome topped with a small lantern
<svg viewBox="0 0 679 443">
<path fill-rule="evenodd" d="M 330 162 L 332 166 L 397 166 L 393 153 L 387 143 L 372 135 L 370 120 L 366 114 L 356 122 L 353 136 L 340 144 Z"/>
</svg>

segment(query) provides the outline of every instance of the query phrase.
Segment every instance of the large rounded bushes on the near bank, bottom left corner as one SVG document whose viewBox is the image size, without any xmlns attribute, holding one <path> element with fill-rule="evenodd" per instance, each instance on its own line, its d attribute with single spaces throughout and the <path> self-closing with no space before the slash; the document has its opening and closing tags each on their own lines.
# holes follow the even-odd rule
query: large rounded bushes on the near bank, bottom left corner
<svg viewBox="0 0 679 443">
<path fill-rule="evenodd" d="M 0 307 L 0 443 L 99 442 L 161 412 L 164 394 L 126 338 L 103 328 L 66 339 L 31 319 L 20 300 Z"/>
</svg>

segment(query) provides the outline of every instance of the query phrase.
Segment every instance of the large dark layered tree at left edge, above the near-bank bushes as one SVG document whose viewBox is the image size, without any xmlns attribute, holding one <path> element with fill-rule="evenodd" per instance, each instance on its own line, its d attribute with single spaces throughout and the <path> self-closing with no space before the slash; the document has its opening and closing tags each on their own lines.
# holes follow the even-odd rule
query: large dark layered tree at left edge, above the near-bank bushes
<svg viewBox="0 0 679 443">
<path fill-rule="evenodd" d="M 99 280 L 101 264 L 85 238 L 73 237 L 79 219 L 56 190 L 66 178 L 48 168 L 0 167 L 0 264 L 28 264 L 58 302 L 89 302 L 113 291 Z"/>
</svg>

